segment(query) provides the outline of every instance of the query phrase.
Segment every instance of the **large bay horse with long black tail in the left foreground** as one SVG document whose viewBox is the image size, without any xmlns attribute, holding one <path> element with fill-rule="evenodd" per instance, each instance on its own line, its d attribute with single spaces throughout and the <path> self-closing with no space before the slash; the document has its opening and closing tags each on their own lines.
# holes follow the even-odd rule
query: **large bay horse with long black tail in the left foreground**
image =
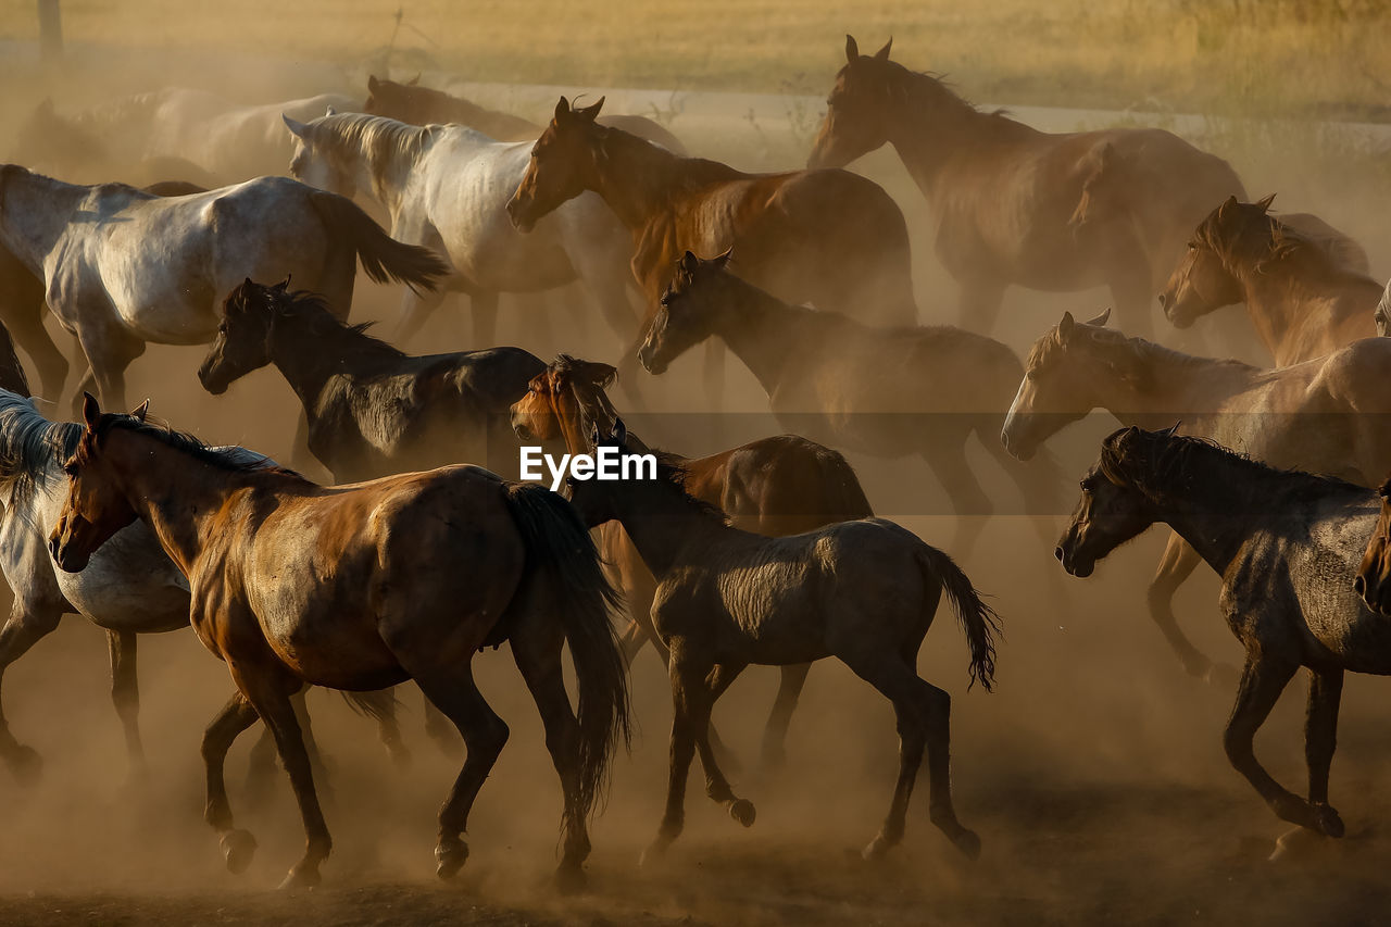
<svg viewBox="0 0 1391 927">
<path fill-rule="evenodd" d="M 363 690 L 415 679 L 467 745 L 435 849 L 437 874 L 458 873 L 469 810 L 508 739 L 472 660 L 510 642 L 565 792 L 556 877 L 565 888 L 583 882 L 586 818 L 629 732 L 627 679 L 611 626 L 615 593 L 563 498 L 476 466 L 323 487 L 139 416 L 102 413 L 90 395 L 83 423 L 64 464 L 68 493 L 50 550 L 61 569 L 81 571 L 117 530 L 143 519 L 188 576 L 193 629 L 236 686 L 203 736 L 204 817 L 231 871 L 256 848 L 235 827 L 223 781 L 236 735 L 257 717 L 274 734 L 307 838 L 282 887 L 313 887 L 331 839 L 288 693 L 305 682 Z"/>
</svg>

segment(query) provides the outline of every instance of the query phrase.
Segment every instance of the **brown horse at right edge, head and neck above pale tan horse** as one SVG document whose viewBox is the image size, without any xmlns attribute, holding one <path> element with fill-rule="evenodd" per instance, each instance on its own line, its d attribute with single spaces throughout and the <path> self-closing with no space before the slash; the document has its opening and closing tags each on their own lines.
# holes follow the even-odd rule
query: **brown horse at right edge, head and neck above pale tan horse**
<svg viewBox="0 0 1391 927">
<path fill-rule="evenodd" d="M 1159 295 L 1164 315 L 1187 328 L 1244 302 L 1277 367 L 1374 335 L 1381 283 L 1337 241 L 1271 216 L 1273 199 L 1231 196 L 1203 219 Z"/>
</svg>

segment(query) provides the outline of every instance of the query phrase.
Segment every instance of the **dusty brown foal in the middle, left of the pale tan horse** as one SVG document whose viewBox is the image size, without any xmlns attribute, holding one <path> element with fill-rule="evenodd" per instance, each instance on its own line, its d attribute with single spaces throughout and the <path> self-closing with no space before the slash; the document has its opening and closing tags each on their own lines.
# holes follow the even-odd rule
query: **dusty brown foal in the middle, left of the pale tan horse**
<svg viewBox="0 0 1391 927">
<path fill-rule="evenodd" d="M 768 394 L 778 423 L 830 447 L 921 457 L 958 516 L 953 550 L 967 557 L 989 515 L 989 497 L 965 459 L 976 436 L 1024 493 L 1025 511 L 1060 504 L 1052 458 L 1024 466 L 997 440 L 1024 373 L 1008 347 L 982 334 L 932 327 L 872 327 L 836 312 L 789 305 L 691 252 L 679 262 L 638 359 L 661 374 L 711 337 L 723 341 Z M 743 274 L 743 258 L 737 267 Z"/>
</svg>

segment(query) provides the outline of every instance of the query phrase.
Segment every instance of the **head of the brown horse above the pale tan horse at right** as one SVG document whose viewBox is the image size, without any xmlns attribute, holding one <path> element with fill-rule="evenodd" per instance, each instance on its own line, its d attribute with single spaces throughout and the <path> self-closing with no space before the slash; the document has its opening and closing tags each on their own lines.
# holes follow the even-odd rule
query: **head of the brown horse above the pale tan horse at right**
<svg viewBox="0 0 1391 927">
<path fill-rule="evenodd" d="M 1259 203 L 1239 203 L 1235 196 L 1214 209 L 1193 231 L 1188 252 L 1174 267 L 1159 294 L 1159 305 L 1177 328 L 1187 328 L 1209 312 L 1241 302 L 1241 280 L 1232 269 L 1238 241 L 1259 224 L 1269 235 L 1267 196 Z"/>
</svg>

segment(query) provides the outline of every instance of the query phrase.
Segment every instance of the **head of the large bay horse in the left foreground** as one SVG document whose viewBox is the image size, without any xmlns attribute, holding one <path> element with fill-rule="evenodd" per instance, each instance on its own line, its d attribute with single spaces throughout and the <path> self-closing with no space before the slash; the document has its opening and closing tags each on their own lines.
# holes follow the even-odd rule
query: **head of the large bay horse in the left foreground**
<svg viewBox="0 0 1391 927">
<path fill-rule="evenodd" d="M 147 408 L 146 401 L 131 415 L 143 422 Z M 110 418 L 113 416 L 102 415 L 96 399 L 88 393 L 82 404 L 86 429 L 77 451 L 63 465 L 68 475 L 68 496 L 58 523 L 49 536 L 49 553 L 53 562 L 70 573 L 86 566 L 97 547 L 135 521 L 135 509 L 121 487 L 115 468 L 102 454 L 102 425 Z"/>
</svg>

